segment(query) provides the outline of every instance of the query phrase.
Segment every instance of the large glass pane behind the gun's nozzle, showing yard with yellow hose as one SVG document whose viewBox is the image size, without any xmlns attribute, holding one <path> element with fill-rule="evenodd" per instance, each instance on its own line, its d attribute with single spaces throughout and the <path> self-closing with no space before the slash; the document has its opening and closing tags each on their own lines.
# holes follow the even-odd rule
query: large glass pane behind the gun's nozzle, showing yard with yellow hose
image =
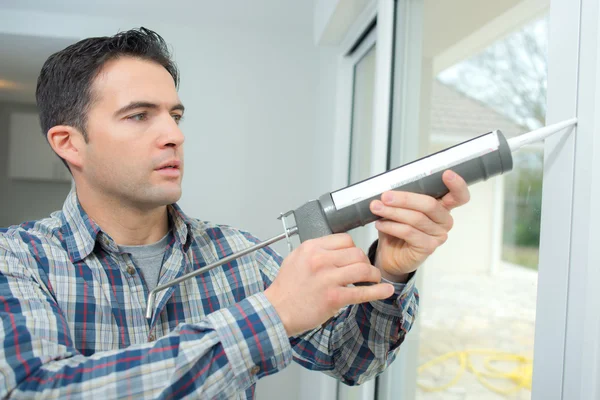
<svg viewBox="0 0 600 400">
<path fill-rule="evenodd" d="M 482 8 L 474 21 L 426 7 L 427 153 L 545 124 L 546 17 L 515 26 L 500 17 L 506 9 L 491 9 L 498 15 Z M 531 398 L 543 146 L 513 157 L 513 171 L 470 187 L 449 240 L 422 269 L 418 399 Z"/>
</svg>

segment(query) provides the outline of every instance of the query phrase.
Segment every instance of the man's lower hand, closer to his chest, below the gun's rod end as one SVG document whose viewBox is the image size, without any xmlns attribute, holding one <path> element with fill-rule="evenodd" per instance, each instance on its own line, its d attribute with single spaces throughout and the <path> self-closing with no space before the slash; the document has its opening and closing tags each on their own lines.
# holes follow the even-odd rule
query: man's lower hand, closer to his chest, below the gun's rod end
<svg viewBox="0 0 600 400">
<path fill-rule="evenodd" d="M 302 243 L 286 257 L 265 296 L 288 336 L 294 336 L 321 325 L 346 305 L 390 297 L 394 287 L 380 281 L 380 270 L 350 235 L 340 233 Z M 357 282 L 376 284 L 347 287 Z"/>
</svg>

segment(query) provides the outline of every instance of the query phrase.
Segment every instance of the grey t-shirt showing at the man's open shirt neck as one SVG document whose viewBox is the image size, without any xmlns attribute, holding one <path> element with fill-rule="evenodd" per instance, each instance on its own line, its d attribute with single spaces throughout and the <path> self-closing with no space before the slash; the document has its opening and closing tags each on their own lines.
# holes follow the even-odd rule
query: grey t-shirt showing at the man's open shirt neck
<svg viewBox="0 0 600 400">
<path fill-rule="evenodd" d="M 160 239 L 156 243 L 145 244 L 141 246 L 119 246 L 121 253 L 131 254 L 133 263 L 138 272 L 142 274 L 148 292 L 156 287 L 158 278 L 160 277 L 160 268 L 162 266 L 163 257 L 167 251 L 169 234 Z"/>
</svg>

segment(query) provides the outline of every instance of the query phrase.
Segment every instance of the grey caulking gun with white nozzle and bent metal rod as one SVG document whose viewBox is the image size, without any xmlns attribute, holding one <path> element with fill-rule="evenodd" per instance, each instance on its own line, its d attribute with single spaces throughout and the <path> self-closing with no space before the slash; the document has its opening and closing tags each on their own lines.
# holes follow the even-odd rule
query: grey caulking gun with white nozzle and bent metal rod
<svg viewBox="0 0 600 400">
<path fill-rule="evenodd" d="M 577 119 L 573 118 L 508 140 L 502 132 L 492 131 L 343 189 L 325 193 L 318 199 L 311 200 L 293 211 L 281 214 L 279 219 L 283 223 L 284 233 L 154 288 L 148 295 L 146 318 L 152 317 L 156 293 L 164 289 L 283 239 L 288 241 L 291 251 L 290 237 L 296 234 L 298 234 L 300 242 L 304 242 L 364 226 L 379 219 L 370 212 L 369 205 L 371 201 L 379 198 L 383 192 L 388 190 L 414 192 L 441 198 L 448 193 L 448 188 L 442 181 L 442 174 L 445 170 L 452 169 L 468 185 L 511 171 L 513 152 L 576 124 Z M 288 228 L 285 217 L 290 215 L 294 216 L 296 226 Z"/>
</svg>

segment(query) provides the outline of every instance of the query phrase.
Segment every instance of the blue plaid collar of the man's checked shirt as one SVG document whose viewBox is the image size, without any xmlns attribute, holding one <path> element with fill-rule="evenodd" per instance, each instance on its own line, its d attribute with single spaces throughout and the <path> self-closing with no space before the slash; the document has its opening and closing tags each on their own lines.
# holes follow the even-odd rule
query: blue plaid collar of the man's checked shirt
<svg viewBox="0 0 600 400">
<path fill-rule="evenodd" d="M 187 251 L 191 244 L 189 236 L 193 221 L 175 203 L 168 205 L 167 210 L 175 239 L 181 243 L 184 251 Z M 81 203 L 79 203 L 75 189 L 71 189 L 63 204 L 63 217 L 63 226 L 66 228 L 64 239 L 72 262 L 83 260 L 90 255 L 96 243 L 99 243 L 108 251 L 119 251 L 117 244 L 110 235 L 103 232 L 100 226 L 85 212 Z"/>
</svg>

